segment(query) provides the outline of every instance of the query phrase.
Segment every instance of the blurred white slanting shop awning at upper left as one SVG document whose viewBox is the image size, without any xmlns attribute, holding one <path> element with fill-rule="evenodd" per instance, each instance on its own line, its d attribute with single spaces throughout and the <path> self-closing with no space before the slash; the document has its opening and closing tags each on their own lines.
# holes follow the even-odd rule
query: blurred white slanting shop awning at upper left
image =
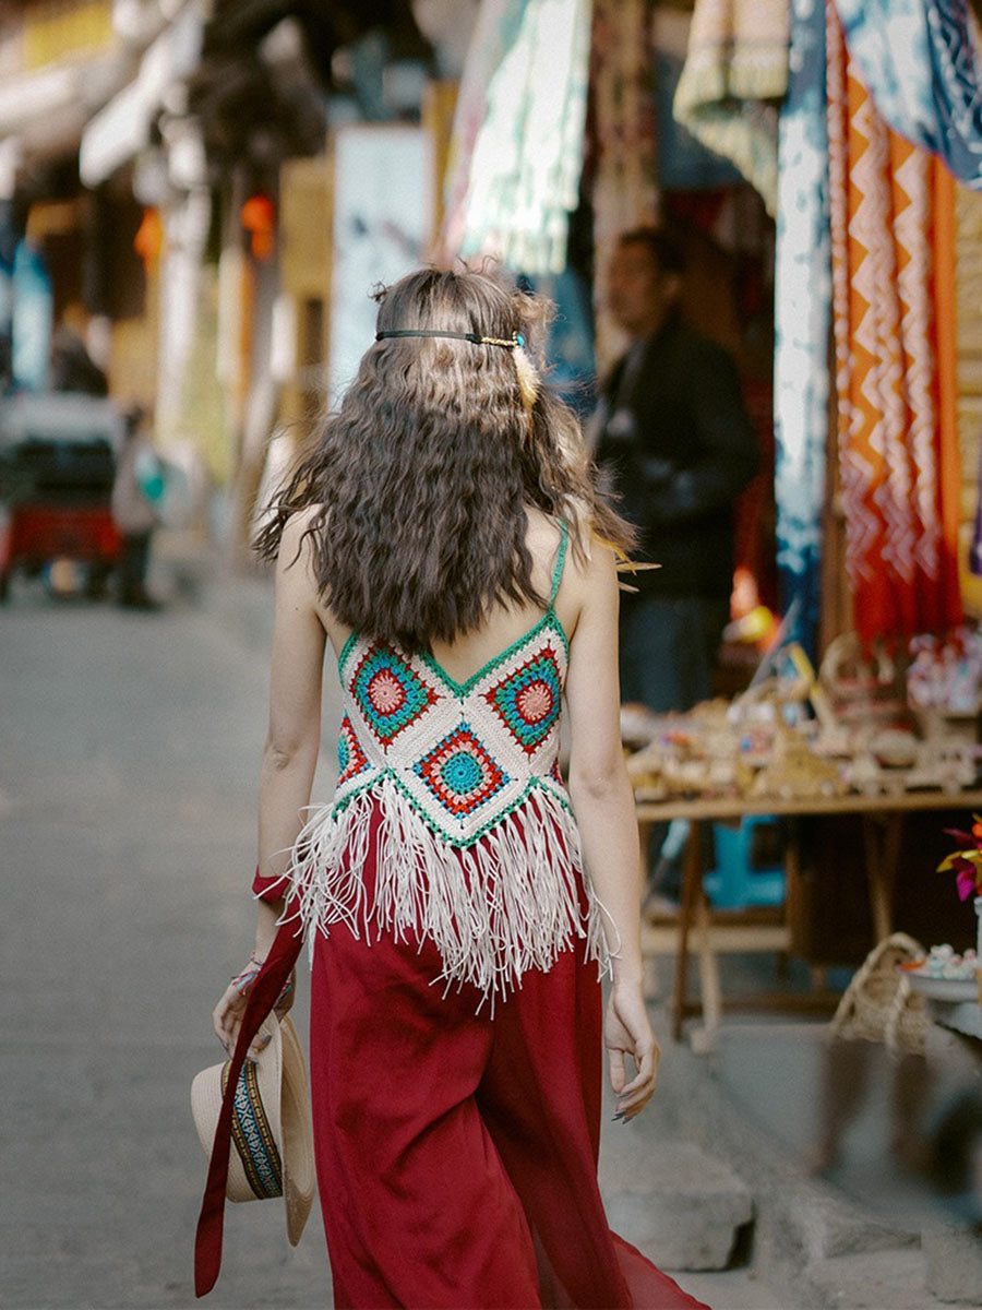
<svg viewBox="0 0 982 1310">
<path fill-rule="evenodd" d="M 194 0 L 147 47 L 136 77 L 85 128 L 79 173 L 86 186 L 98 186 L 149 143 L 153 119 L 168 88 L 194 71 L 204 35 L 204 4 Z"/>
</svg>

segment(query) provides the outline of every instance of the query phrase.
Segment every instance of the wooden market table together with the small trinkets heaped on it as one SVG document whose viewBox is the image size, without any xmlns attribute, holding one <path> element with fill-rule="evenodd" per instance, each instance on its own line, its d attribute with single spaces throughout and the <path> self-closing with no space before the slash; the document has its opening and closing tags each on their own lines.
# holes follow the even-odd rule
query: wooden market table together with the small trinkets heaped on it
<svg viewBox="0 0 982 1310">
<path fill-rule="evenodd" d="M 718 956 L 727 951 L 787 951 L 799 874 L 797 828 L 788 828 L 779 896 L 755 897 L 738 909 L 725 886 L 707 896 L 704 824 L 746 824 L 807 816 L 856 815 L 862 820 L 864 872 L 873 939 L 894 929 L 893 892 L 905 816 L 961 807 L 982 808 L 978 745 L 982 641 L 964 630 L 949 642 L 919 638 L 900 665 L 863 659 L 855 639 L 839 639 L 816 673 L 797 645 L 762 660 L 750 688 L 733 701 L 712 701 L 689 714 L 651 715 L 626 707 L 622 731 L 643 846 L 653 825 L 687 824 L 681 904 L 676 916 L 653 913 L 644 930 L 651 954 L 676 959 L 672 1017 L 680 1036 L 687 1014 L 699 1013 L 708 1041 L 724 1006 Z M 786 888 L 786 891 L 784 891 Z M 719 895 L 720 891 L 723 895 Z M 770 904 L 754 904 L 754 900 Z M 740 901 L 740 893 L 736 897 Z M 700 1002 L 690 1005 L 687 964 L 693 934 Z M 872 942 L 871 942 L 872 945 Z M 821 988 L 805 996 L 740 998 L 740 1005 L 827 1007 Z"/>
</svg>

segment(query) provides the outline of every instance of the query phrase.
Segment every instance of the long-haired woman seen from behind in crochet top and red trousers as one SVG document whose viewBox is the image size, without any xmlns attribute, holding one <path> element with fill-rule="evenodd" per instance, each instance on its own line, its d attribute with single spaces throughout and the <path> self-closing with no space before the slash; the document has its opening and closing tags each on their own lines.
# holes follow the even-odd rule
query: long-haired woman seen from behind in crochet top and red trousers
<svg viewBox="0 0 982 1310">
<path fill-rule="evenodd" d="M 338 1306 L 699 1305 L 610 1233 L 597 1188 L 602 1047 L 621 1120 L 659 1058 L 618 724 L 611 545 L 630 532 L 538 384 L 541 321 L 484 272 L 381 292 L 376 342 L 259 537 L 278 569 L 258 924 L 213 1024 L 234 1087 L 302 926 Z M 340 776 L 301 831 L 329 645 Z M 215 1241 L 206 1197 L 199 1293 Z"/>
</svg>

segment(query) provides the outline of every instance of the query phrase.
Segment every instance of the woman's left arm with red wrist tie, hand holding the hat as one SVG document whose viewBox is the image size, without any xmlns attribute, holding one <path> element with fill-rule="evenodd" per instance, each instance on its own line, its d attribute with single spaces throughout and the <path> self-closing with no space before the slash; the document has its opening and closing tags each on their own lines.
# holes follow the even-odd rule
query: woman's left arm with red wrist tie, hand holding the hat
<svg viewBox="0 0 982 1310">
<path fill-rule="evenodd" d="M 317 591 L 301 544 L 306 515 L 289 520 L 276 562 L 276 603 L 270 675 L 270 720 L 259 776 L 259 872 L 289 867 L 289 852 L 310 800 L 321 740 L 321 680 L 326 634 Z M 263 960 L 276 935 L 283 901 L 258 903 L 254 959 Z M 241 984 L 240 984 L 241 986 Z M 213 1013 L 215 1031 L 230 1048 L 238 1034 L 244 993 L 229 986 Z M 255 1053 L 255 1052 L 251 1052 Z"/>
</svg>

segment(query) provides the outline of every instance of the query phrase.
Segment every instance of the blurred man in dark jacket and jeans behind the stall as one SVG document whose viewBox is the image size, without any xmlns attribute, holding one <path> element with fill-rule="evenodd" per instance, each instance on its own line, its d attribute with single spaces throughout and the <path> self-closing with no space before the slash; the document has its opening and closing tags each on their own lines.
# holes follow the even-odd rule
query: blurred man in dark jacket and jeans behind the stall
<svg viewBox="0 0 982 1310">
<path fill-rule="evenodd" d="M 594 417 L 594 458 L 660 565 L 622 596 L 621 698 L 686 710 L 712 689 L 729 616 L 733 500 L 757 472 L 757 439 L 731 356 L 680 310 L 682 259 L 663 232 L 625 233 L 609 307 L 631 338 Z"/>
</svg>

